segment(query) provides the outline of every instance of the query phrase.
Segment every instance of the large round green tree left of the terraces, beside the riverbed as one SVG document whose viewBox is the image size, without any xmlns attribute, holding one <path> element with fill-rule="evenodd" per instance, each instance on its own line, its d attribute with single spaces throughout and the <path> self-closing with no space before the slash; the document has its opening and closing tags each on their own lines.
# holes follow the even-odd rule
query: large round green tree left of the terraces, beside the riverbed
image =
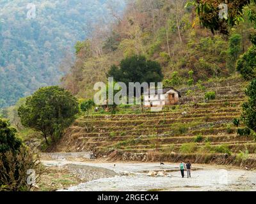
<svg viewBox="0 0 256 204">
<path fill-rule="evenodd" d="M 18 109 L 22 125 L 40 131 L 47 145 L 47 137 L 55 142 L 56 136 L 61 136 L 78 112 L 77 99 L 58 86 L 39 89 Z"/>
</svg>

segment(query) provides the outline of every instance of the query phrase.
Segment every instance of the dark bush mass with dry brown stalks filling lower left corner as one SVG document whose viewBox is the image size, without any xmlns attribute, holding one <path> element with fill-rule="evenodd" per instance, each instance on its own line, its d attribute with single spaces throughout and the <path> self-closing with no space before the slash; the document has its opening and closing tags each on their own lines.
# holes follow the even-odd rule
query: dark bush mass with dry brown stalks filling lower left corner
<svg viewBox="0 0 256 204">
<path fill-rule="evenodd" d="M 0 119 L 0 191 L 29 190 L 27 170 L 33 169 L 39 178 L 39 157 L 35 157 L 16 137 L 16 129 Z"/>
</svg>

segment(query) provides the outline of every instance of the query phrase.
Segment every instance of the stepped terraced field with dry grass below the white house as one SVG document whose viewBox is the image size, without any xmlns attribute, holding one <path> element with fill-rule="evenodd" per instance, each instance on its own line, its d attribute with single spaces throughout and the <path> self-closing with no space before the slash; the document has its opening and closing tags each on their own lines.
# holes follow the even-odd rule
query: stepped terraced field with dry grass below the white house
<svg viewBox="0 0 256 204">
<path fill-rule="evenodd" d="M 98 157 L 125 161 L 191 159 L 253 166 L 256 143 L 250 136 L 238 136 L 232 122 L 240 117 L 246 101 L 244 83 L 234 78 L 205 86 L 217 93 L 216 99 L 203 103 L 204 92 L 193 87 L 196 103 L 186 96 L 188 89 L 181 89 L 180 105 L 166 106 L 162 112 L 85 115 L 67 130 L 55 150 L 93 151 Z M 246 158 L 237 157 L 241 152 Z"/>
</svg>

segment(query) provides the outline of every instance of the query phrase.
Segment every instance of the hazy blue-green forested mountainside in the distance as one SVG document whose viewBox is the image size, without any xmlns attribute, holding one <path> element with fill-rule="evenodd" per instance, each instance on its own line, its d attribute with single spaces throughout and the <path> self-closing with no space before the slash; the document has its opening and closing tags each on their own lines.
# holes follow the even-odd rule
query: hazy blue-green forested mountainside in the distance
<svg viewBox="0 0 256 204">
<path fill-rule="evenodd" d="M 27 19 L 29 3 L 35 18 Z M 72 62 L 76 41 L 92 36 L 95 25 L 111 23 L 123 7 L 119 0 L 1 0 L 0 108 L 58 84 L 68 67 L 60 62 Z"/>
</svg>

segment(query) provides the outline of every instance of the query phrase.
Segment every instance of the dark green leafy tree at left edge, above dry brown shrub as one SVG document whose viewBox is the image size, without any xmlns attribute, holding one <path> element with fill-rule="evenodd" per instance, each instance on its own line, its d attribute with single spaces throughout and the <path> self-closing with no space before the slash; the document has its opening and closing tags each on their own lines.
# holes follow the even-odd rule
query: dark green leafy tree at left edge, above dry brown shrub
<svg viewBox="0 0 256 204">
<path fill-rule="evenodd" d="M 16 137 L 17 130 L 11 128 L 6 120 L 0 119 L 0 153 L 15 152 L 20 149 L 22 142 Z"/>
</svg>

